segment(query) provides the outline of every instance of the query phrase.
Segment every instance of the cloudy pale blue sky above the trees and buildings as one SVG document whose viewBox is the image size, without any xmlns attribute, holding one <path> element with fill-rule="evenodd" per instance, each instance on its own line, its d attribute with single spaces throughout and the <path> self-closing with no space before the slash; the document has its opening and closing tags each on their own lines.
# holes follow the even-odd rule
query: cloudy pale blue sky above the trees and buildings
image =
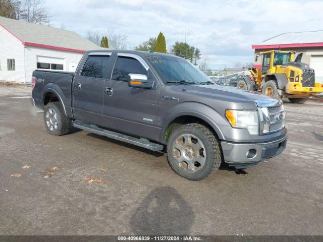
<svg viewBox="0 0 323 242">
<path fill-rule="evenodd" d="M 211 69 L 253 61 L 252 44 L 286 32 L 323 30 L 323 0 L 183 1 L 46 0 L 50 24 L 85 36 L 113 29 L 127 35 L 127 47 L 157 37 L 168 49 L 186 41 L 200 49 Z"/>
</svg>

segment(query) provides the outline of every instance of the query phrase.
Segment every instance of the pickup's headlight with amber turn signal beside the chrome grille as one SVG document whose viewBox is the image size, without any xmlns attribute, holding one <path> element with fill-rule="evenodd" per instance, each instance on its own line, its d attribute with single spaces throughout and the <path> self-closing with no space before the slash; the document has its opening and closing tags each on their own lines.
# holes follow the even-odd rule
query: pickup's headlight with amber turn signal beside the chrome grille
<svg viewBox="0 0 323 242">
<path fill-rule="evenodd" d="M 233 128 L 245 128 L 250 135 L 259 134 L 257 111 L 226 110 L 226 117 Z"/>
</svg>

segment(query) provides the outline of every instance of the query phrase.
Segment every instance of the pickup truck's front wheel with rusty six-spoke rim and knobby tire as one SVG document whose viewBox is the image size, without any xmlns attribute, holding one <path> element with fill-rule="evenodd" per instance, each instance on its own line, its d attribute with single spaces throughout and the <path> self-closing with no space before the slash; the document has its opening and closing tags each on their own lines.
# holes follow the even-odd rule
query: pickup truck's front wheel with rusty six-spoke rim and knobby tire
<svg viewBox="0 0 323 242">
<path fill-rule="evenodd" d="M 170 135 L 167 159 L 177 174 L 200 180 L 220 167 L 220 142 L 201 124 L 183 125 Z"/>
</svg>

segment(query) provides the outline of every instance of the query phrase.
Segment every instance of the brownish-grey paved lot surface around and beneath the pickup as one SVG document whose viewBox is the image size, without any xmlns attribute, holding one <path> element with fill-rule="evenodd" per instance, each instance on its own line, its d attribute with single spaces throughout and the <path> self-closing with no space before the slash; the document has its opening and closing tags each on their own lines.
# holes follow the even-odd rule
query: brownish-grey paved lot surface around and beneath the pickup
<svg viewBox="0 0 323 242">
<path fill-rule="evenodd" d="M 29 96 L 0 86 L 0 234 L 322 234 L 323 103 L 285 102 L 280 156 L 190 181 L 165 153 L 79 130 L 47 134 Z"/>
</svg>

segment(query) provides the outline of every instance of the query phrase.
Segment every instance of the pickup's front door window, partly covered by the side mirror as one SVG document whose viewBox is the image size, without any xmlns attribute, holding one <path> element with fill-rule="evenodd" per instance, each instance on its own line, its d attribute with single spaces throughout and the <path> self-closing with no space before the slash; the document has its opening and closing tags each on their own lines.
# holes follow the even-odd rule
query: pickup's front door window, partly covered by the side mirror
<svg viewBox="0 0 323 242">
<path fill-rule="evenodd" d="M 119 56 L 113 70 L 112 80 L 128 82 L 129 73 L 147 75 L 146 69 L 137 59 Z"/>
</svg>

